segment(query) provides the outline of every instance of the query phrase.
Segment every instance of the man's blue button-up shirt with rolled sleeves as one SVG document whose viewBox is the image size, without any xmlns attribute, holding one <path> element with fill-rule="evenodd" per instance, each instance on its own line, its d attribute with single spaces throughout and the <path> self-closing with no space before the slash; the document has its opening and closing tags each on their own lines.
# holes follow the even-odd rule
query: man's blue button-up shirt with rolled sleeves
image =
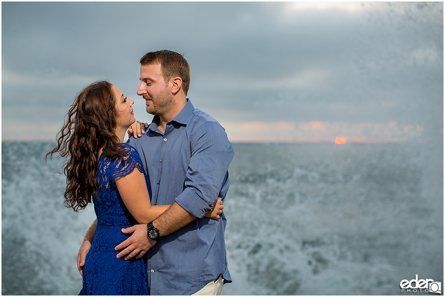
<svg viewBox="0 0 445 297">
<path fill-rule="evenodd" d="M 152 188 L 152 205 L 177 201 L 197 217 L 161 239 L 148 252 L 151 295 L 191 295 L 223 275 L 227 269 L 224 214 L 219 220 L 204 217 L 228 187 L 228 166 L 233 148 L 224 128 L 190 100 L 178 115 L 158 130 L 154 116 L 141 138 L 128 141 L 142 159 Z"/>
</svg>

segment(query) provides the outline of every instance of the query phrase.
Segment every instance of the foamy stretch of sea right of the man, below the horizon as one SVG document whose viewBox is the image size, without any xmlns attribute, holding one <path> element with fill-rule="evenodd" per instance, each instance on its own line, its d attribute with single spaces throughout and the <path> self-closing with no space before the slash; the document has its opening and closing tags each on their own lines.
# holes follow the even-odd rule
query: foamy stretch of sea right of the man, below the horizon
<svg viewBox="0 0 445 297">
<path fill-rule="evenodd" d="M 415 274 L 442 281 L 443 183 L 425 188 L 425 146 L 234 148 L 224 294 L 397 295 Z"/>
</svg>

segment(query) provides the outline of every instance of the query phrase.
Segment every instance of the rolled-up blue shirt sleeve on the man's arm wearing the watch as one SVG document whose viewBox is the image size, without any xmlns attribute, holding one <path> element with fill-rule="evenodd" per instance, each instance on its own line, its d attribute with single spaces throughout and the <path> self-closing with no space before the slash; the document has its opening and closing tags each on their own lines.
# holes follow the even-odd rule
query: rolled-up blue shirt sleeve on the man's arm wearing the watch
<svg viewBox="0 0 445 297">
<path fill-rule="evenodd" d="M 201 124 L 190 137 L 190 163 L 185 189 L 176 201 L 198 218 L 210 211 L 228 179 L 234 151 L 218 122 Z"/>
</svg>

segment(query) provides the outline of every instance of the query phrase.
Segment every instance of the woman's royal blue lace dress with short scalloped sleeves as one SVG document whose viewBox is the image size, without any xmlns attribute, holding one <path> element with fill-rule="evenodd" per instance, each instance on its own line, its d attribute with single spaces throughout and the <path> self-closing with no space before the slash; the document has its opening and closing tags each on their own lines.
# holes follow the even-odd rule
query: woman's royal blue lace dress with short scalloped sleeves
<svg viewBox="0 0 445 297">
<path fill-rule="evenodd" d="M 96 233 L 85 261 L 83 288 L 79 295 L 148 295 L 145 256 L 126 261 L 116 258 L 118 251 L 114 250 L 129 237 L 121 229 L 138 224 L 122 201 L 115 179 L 139 170 L 145 176 L 151 197 L 150 183 L 139 154 L 133 147 L 121 145 L 126 151 L 124 162 L 103 154 L 99 157 L 96 179 L 100 186 L 98 198 L 93 198 Z"/>
</svg>

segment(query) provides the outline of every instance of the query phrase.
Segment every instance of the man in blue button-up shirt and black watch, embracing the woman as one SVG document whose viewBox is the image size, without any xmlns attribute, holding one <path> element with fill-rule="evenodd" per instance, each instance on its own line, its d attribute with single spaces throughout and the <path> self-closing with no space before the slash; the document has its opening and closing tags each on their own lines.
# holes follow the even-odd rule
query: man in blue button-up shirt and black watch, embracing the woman
<svg viewBox="0 0 445 297">
<path fill-rule="evenodd" d="M 231 282 L 226 220 L 223 214 L 218 220 L 204 215 L 227 193 L 233 148 L 223 127 L 186 98 L 190 70 L 182 55 L 149 52 L 140 64 L 137 95 L 154 117 L 143 136 L 128 143 L 149 175 L 151 203 L 173 204 L 153 222 L 123 229 L 133 235 L 116 247 L 123 249 L 117 257 L 147 253 L 150 295 L 221 295 L 223 283 Z M 93 224 L 79 250 L 81 274 L 94 229 Z"/>
</svg>

